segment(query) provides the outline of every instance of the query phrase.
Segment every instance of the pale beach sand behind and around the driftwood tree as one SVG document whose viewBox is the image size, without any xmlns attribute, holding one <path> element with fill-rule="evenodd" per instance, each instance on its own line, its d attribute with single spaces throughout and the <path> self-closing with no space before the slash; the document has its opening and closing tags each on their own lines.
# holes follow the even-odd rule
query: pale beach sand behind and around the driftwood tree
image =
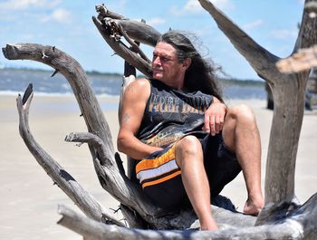
<svg viewBox="0 0 317 240">
<path fill-rule="evenodd" d="M 99 98 L 110 124 L 112 139 L 118 134 L 117 98 Z M 247 103 L 255 110 L 263 147 L 263 186 L 265 161 L 273 112 L 265 109 L 265 101 L 229 101 L 229 105 Z M 43 149 L 56 159 L 73 178 L 106 208 L 117 209 L 119 203 L 102 189 L 92 166 L 87 145 L 64 142 L 70 132 L 87 131 L 73 97 L 36 96 L 30 110 L 30 128 Z M 304 202 L 316 192 L 317 114 L 305 113 L 298 149 L 295 192 Z M 62 204 L 81 211 L 53 185 L 24 145 L 18 132 L 15 96 L 0 95 L 0 239 L 82 239 L 80 235 L 58 226 L 61 218 L 57 206 Z M 222 192 L 242 211 L 246 191 L 240 174 Z M 111 212 L 111 210 L 109 210 Z"/>
</svg>

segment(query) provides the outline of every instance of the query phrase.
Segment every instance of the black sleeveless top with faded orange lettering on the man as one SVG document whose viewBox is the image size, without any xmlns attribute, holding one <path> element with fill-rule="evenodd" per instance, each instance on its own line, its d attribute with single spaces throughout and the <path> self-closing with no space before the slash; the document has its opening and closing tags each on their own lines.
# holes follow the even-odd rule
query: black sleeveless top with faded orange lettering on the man
<svg viewBox="0 0 317 240">
<path fill-rule="evenodd" d="M 201 91 L 175 90 L 157 80 L 150 80 L 150 96 L 137 138 L 142 142 L 165 147 L 186 135 L 202 139 L 204 112 L 213 97 Z"/>
</svg>

